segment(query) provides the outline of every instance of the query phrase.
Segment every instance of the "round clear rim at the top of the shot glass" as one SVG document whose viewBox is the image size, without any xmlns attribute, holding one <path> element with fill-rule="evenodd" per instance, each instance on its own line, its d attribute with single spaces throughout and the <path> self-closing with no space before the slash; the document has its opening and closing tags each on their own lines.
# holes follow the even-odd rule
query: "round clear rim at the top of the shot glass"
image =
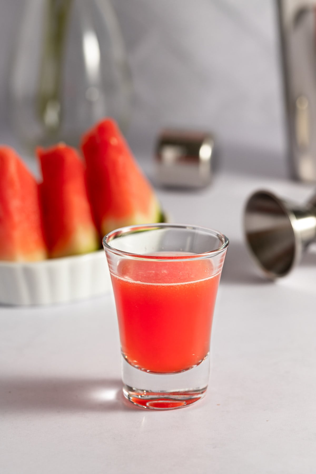
<svg viewBox="0 0 316 474">
<path fill-rule="evenodd" d="M 221 246 L 217 247 L 216 249 L 213 250 L 208 250 L 206 252 L 202 252 L 200 254 L 190 254 L 190 255 L 161 255 L 157 257 L 157 255 L 150 255 L 150 254 L 135 254 L 132 252 L 126 252 L 124 250 L 118 250 L 117 248 L 114 248 L 109 245 L 109 242 L 114 240 L 116 237 L 122 237 L 123 235 L 128 235 L 128 234 L 133 234 L 134 232 L 141 231 L 141 230 L 157 230 L 160 228 L 177 228 L 177 229 L 187 229 L 187 230 L 196 230 L 196 231 L 203 231 L 207 232 L 209 235 L 213 237 L 217 237 L 219 240 L 221 240 L 223 243 Z M 202 258 L 208 258 L 212 255 L 218 255 L 222 253 L 226 248 L 228 247 L 229 240 L 228 237 L 226 237 L 225 234 L 222 234 L 218 230 L 215 229 L 210 229 L 207 227 L 200 227 L 200 226 L 191 226 L 189 224 L 169 224 L 169 223 L 153 223 L 153 224 L 138 224 L 138 225 L 133 225 L 133 226 L 126 226 L 126 227 L 120 227 L 117 229 L 112 230 L 111 232 L 108 232 L 103 239 L 102 239 L 102 244 L 104 247 L 104 250 L 108 250 L 109 252 L 116 254 L 116 255 L 121 255 L 126 258 L 134 258 L 134 259 L 141 259 L 141 260 L 155 260 L 155 261 L 170 261 L 174 262 L 175 260 L 177 261 L 185 261 L 185 260 L 199 260 Z"/>
</svg>

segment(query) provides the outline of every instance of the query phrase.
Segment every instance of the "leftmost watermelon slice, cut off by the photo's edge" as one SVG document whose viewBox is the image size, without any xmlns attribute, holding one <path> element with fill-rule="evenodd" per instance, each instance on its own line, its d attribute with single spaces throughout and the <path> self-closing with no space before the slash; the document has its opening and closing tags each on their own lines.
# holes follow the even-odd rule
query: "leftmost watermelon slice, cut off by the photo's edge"
<svg viewBox="0 0 316 474">
<path fill-rule="evenodd" d="M 0 260 L 45 257 L 36 180 L 12 148 L 0 146 Z"/>
</svg>

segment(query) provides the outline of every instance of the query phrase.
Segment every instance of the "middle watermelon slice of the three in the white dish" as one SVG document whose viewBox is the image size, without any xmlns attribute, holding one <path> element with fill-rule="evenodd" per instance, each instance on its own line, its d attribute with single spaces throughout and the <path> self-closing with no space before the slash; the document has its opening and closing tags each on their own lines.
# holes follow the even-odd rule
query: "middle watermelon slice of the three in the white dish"
<svg viewBox="0 0 316 474">
<path fill-rule="evenodd" d="M 85 168 L 76 150 L 59 144 L 36 152 L 43 174 L 40 197 L 49 256 L 97 250 L 99 236 L 88 201 Z"/>
</svg>

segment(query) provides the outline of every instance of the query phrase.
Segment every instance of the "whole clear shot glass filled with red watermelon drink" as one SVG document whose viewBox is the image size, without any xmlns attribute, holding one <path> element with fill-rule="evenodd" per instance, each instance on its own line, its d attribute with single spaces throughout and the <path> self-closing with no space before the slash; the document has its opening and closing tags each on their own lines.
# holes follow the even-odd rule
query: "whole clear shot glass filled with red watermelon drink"
<svg viewBox="0 0 316 474">
<path fill-rule="evenodd" d="M 146 224 L 103 238 L 122 353 L 125 397 L 173 409 L 208 387 L 209 345 L 226 236 L 207 228 Z"/>
</svg>

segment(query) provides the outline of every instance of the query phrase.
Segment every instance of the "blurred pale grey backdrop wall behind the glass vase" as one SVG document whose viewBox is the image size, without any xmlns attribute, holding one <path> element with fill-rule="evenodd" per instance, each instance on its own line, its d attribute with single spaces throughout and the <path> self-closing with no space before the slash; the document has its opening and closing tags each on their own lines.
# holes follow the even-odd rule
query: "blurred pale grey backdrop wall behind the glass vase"
<svg viewBox="0 0 316 474">
<path fill-rule="evenodd" d="M 0 120 L 24 1 L 0 0 Z M 129 141 L 151 151 L 164 126 L 208 128 L 221 146 L 284 155 L 273 0 L 112 0 L 126 41 L 135 100 Z M 3 128 L 3 127 L 2 127 Z M 254 158 L 255 159 L 255 158 Z"/>
</svg>

